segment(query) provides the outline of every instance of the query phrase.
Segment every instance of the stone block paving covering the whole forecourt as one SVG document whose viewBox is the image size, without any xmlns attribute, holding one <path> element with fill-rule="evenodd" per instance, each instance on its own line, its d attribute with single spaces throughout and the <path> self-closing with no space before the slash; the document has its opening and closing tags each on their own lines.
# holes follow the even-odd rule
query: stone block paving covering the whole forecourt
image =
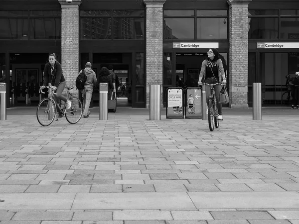
<svg viewBox="0 0 299 224">
<path fill-rule="evenodd" d="M 24 113 L 23 113 L 23 112 Z M 299 110 L 0 121 L 0 224 L 299 224 Z"/>
</svg>

